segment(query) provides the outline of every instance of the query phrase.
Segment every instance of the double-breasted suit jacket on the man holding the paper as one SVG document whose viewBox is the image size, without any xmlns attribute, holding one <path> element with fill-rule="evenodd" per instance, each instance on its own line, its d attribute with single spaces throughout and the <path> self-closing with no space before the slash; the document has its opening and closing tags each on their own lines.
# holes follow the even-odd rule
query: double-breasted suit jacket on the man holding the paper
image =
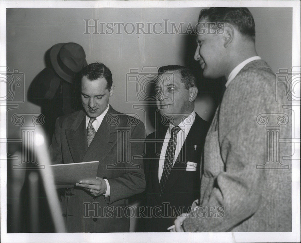
<svg viewBox="0 0 301 243">
<path fill-rule="evenodd" d="M 98 160 L 96 175 L 107 177 L 110 184 L 110 197 L 94 197 L 78 187 L 64 190 L 60 201 L 67 232 L 129 232 L 129 218 L 123 208 L 126 198 L 145 189 L 144 134 L 141 121 L 110 106 L 88 147 L 83 111 L 57 119 L 50 147 L 54 163 Z M 130 143 L 132 138 L 138 142 Z"/>
</svg>

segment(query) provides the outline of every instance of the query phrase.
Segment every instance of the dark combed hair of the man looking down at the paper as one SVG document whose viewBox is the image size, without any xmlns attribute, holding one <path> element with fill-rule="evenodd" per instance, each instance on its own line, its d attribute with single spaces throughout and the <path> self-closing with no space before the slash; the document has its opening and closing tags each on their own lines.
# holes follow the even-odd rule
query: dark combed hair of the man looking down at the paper
<svg viewBox="0 0 301 243">
<path fill-rule="evenodd" d="M 96 80 L 98 78 L 105 78 L 107 80 L 107 89 L 110 91 L 113 78 L 110 69 L 107 68 L 103 63 L 91 63 L 88 66 L 85 66 L 80 72 L 80 80 L 86 76 L 89 80 Z"/>
</svg>

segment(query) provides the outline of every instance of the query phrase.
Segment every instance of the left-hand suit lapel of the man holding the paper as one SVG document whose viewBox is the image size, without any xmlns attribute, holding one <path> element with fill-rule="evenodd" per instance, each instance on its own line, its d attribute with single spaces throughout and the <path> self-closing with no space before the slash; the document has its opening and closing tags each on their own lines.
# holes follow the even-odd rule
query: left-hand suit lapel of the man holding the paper
<svg viewBox="0 0 301 243">
<path fill-rule="evenodd" d="M 88 148 L 85 117 L 85 113 L 80 111 L 70 128 L 65 130 L 74 163 L 82 162 Z"/>
</svg>

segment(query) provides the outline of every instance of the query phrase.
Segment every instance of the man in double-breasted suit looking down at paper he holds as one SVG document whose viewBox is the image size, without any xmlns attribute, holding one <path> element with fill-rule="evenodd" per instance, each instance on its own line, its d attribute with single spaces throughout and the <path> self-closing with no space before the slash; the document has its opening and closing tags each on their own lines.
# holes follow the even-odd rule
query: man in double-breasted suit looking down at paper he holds
<svg viewBox="0 0 301 243">
<path fill-rule="evenodd" d="M 95 180 L 82 180 L 60 197 L 67 232 L 129 232 L 127 198 L 143 192 L 143 123 L 109 105 L 112 74 L 102 63 L 81 71 L 83 110 L 56 121 L 50 152 L 55 164 L 99 161 Z M 142 143 L 131 143 L 130 139 Z"/>
</svg>

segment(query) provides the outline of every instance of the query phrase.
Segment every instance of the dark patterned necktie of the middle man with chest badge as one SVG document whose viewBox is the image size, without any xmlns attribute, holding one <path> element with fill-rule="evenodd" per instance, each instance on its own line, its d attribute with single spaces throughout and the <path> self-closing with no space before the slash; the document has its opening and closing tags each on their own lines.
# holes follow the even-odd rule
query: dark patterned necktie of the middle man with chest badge
<svg viewBox="0 0 301 243">
<path fill-rule="evenodd" d="M 176 126 L 171 129 L 171 137 L 169 139 L 166 154 L 165 154 L 165 160 L 164 160 L 164 168 L 163 173 L 160 180 L 160 195 L 163 193 L 163 190 L 166 186 L 172 165 L 173 160 L 175 158 L 175 148 L 177 146 L 177 134 L 181 130 L 180 127 Z"/>
</svg>

